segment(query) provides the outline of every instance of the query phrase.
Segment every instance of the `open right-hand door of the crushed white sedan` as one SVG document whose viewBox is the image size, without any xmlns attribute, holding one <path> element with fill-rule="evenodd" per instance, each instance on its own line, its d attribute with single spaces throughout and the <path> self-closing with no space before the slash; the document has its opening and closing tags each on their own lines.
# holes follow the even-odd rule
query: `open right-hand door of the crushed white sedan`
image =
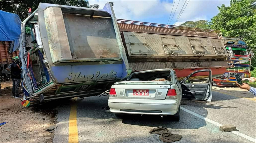
<svg viewBox="0 0 256 143">
<path fill-rule="evenodd" d="M 182 98 L 211 101 L 211 70 L 197 70 L 181 82 Z"/>
</svg>

